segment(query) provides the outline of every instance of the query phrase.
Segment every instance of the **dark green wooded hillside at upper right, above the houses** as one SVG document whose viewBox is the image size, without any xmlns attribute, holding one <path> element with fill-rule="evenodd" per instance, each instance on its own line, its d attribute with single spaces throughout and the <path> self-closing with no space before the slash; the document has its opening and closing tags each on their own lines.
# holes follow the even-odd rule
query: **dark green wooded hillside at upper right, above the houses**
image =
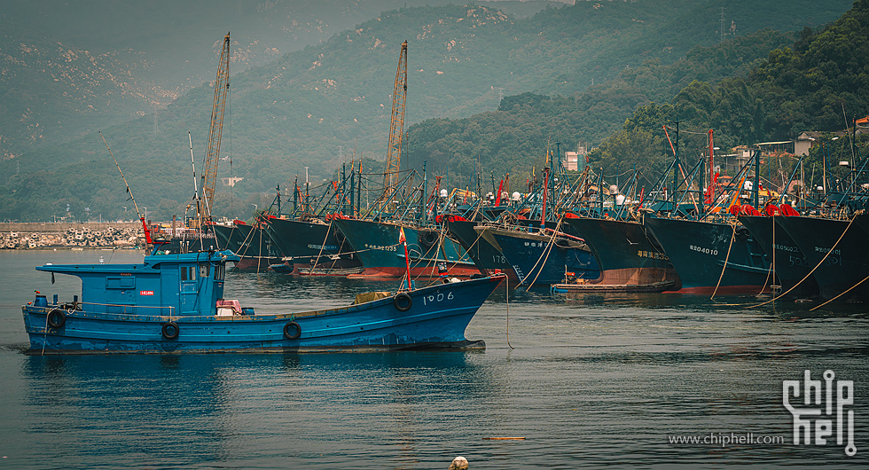
<svg viewBox="0 0 869 470">
<path fill-rule="evenodd" d="M 723 149 L 790 140 L 806 130 L 853 129 L 855 118 L 869 114 L 866 37 L 869 0 L 859 0 L 827 27 L 803 29 L 795 43 L 773 49 L 748 74 L 718 82 L 696 77 L 669 102 L 639 107 L 591 159 L 610 173 L 636 164 L 654 174 L 671 158 L 661 129 L 674 121 L 693 132 L 684 141 L 692 158 L 707 145 L 708 129 L 714 129 L 716 145 Z M 849 143 L 834 142 L 833 137 L 824 140 L 834 153 Z M 820 145 L 809 165 L 821 168 L 819 152 Z"/>
</svg>

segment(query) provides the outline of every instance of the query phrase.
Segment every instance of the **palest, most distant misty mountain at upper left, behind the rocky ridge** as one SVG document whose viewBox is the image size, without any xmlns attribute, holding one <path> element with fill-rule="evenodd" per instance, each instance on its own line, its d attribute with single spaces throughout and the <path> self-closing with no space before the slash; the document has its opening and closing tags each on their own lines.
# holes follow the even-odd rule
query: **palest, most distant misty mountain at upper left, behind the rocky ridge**
<svg viewBox="0 0 869 470">
<path fill-rule="evenodd" d="M 449 0 L 9 0 L 0 11 L 0 159 L 165 108 L 214 80 L 324 42 L 384 10 Z M 502 2 L 530 15 L 550 2 Z"/>
</svg>

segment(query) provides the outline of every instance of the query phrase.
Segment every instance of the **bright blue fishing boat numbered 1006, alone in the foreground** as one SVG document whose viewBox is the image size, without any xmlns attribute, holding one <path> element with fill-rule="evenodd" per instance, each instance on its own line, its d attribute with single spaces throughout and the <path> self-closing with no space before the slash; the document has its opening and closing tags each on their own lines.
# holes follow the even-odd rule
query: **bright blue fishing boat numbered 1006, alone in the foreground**
<svg viewBox="0 0 869 470">
<path fill-rule="evenodd" d="M 231 251 L 149 255 L 141 264 L 39 266 L 82 279 L 82 297 L 22 307 L 27 354 L 480 349 L 465 328 L 503 275 L 359 294 L 347 307 L 256 313 L 223 299 Z"/>
</svg>

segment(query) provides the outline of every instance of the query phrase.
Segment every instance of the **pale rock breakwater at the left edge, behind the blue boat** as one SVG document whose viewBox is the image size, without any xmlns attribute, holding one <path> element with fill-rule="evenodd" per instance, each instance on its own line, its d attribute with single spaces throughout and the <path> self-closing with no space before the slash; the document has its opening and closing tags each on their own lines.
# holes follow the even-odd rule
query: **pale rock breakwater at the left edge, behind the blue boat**
<svg viewBox="0 0 869 470">
<path fill-rule="evenodd" d="M 0 223 L 0 249 L 142 246 L 138 222 Z"/>
</svg>

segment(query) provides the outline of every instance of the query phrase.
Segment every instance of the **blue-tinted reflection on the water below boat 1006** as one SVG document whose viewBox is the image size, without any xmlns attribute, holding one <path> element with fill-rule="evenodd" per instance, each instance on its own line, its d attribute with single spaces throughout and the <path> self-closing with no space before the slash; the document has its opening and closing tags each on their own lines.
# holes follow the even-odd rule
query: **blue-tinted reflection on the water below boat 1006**
<svg viewBox="0 0 869 470">
<path fill-rule="evenodd" d="M 431 429 L 457 418 L 456 403 L 505 393 L 507 380 L 491 381 L 498 372 L 469 356 L 481 353 L 27 356 L 29 463 L 245 466 L 255 456 L 278 468 L 359 458 L 384 443 L 400 449 L 381 463 L 401 467 L 431 458 Z M 348 429 L 353 439 L 336 447 Z"/>
</svg>

